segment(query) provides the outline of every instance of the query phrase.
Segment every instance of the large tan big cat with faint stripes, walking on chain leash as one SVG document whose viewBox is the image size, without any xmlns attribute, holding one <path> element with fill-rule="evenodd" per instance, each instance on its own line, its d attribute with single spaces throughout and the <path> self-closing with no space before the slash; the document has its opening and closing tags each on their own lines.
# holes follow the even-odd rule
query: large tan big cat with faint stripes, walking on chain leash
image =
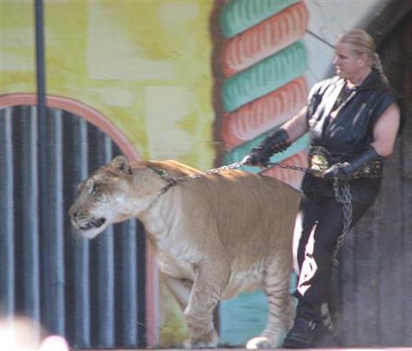
<svg viewBox="0 0 412 351">
<path fill-rule="evenodd" d="M 188 347 L 216 346 L 214 307 L 253 289 L 264 289 L 270 313 L 266 329 L 247 348 L 277 346 L 293 318 L 288 282 L 299 192 L 273 178 L 231 170 L 159 195 L 167 182 L 153 168 L 171 178 L 197 172 L 176 161 L 128 165 L 119 156 L 80 186 L 70 211 L 73 226 L 91 238 L 108 223 L 134 216 L 144 223 L 159 268 L 183 308 Z M 102 218 L 99 228 L 82 230 Z"/>
</svg>

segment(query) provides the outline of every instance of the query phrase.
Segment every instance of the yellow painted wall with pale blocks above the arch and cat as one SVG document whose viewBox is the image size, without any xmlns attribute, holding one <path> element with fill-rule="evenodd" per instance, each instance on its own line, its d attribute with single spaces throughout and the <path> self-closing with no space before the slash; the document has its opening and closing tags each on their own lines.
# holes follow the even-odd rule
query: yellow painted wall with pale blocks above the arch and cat
<svg viewBox="0 0 412 351">
<path fill-rule="evenodd" d="M 213 0 L 45 1 L 47 93 L 82 101 L 144 158 L 214 159 Z M 1 0 L 1 93 L 36 90 L 34 3 Z"/>
</svg>

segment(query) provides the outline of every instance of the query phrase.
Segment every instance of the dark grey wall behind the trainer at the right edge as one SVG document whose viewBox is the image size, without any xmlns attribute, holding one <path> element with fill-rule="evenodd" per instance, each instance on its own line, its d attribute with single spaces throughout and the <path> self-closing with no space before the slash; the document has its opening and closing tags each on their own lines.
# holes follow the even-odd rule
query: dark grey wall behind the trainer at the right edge
<svg viewBox="0 0 412 351">
<path fill-rule="evenodd" d="M 376 204 L 341 253 L 334 306 L 347 346 L 412 346 L 412 10 L 398 5 L 393 1 L 368 29 L 391 85 L 403 97 L 404 128 L 386 160 Z M 395 12 L 403 16 L 397 25 L 391 22 Z"/>
</svg>

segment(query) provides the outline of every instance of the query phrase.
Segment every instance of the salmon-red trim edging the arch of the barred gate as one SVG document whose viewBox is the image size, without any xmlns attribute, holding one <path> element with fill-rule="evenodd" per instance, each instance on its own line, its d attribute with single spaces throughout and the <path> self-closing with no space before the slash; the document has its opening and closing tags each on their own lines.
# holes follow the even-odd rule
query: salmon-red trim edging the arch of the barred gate
<svg viewBox="0 0 412 351">
<path fill-rule="evenodd" d="M 37 95 L 34 93 L 12 93 L 0 95 L 0 108 L 36 105 Z M 47 95 L 46 106 L 59 108 L 67 112 L 76 114 L 84 118 L 89 123 L 106 133 L 119 147 L 124 156 L 130 161 L 141 160 L 139 153 L 130 144 L 126 136 L 113 124 L 108 121 L 104 114 L 83 104 L 80 101 L 60 97 L 57 95 Z M 159 343 L 159 299 L 158 299 L 158 278 L 155 254 L 150 245 L 146 245 L 146 326 L 148 347 L 155 347 Z"/>
</svg>

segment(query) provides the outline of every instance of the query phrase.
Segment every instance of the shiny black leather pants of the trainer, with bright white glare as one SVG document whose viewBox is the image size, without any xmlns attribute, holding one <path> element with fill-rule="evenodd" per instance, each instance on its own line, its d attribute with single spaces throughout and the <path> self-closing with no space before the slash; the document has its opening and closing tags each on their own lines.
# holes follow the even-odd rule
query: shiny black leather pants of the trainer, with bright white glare
<svg viewBox="0 0 412 351">
<path fill-rule="evenodd" d="M 371 204 L 352 202 L 352 226 Z M 306 195 L 301 202 L 301 237 L 297 250 L 299 280 L 295 295 L 306 304 L 328 302 L 332 254 L 343 228 L 342 206 L 336 199 Z"/>
</svg>

